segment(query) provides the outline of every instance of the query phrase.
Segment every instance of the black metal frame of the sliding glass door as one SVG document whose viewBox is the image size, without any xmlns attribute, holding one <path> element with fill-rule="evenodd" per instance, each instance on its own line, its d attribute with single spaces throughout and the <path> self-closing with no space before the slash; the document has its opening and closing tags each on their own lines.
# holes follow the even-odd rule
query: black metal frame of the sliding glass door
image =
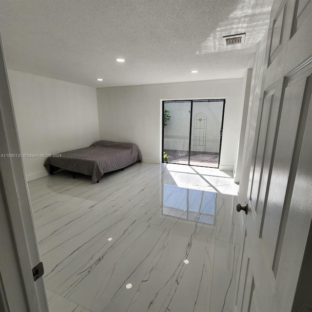
<svg viewBox="0 0 312 312">
<path fill-rule="evenodd" d="M 183 99 L 183 100 L 164 100 L 162 101 L 162 142 L 161 142 L 161 162 L 164 163 L 164 111 L 165 111 L 165 103 L 172 102 L 191 102 L 191 115 L 190 115 L 190 135 L 189 135 L 189 159 L 188 164 L 181 164 L 190 166 L 190 158 L 191 158 L 191 141 L 192 141 L 192 119 L 193 119 L 193 102 L 223 102 L 223 110 L 222 110 L 222 121 L 221 121 L 221 129 L 220 129 L 220 147 L 219 147 L 219 159 L 218 159 L 218 168 L 220 166 L 220 155 L 221 155 L 221 144 L 222 144 L 222 136 L 223 136 L 223 121 L 224 121 L 224 110 L 225 110 L 225 98 L 215 98 L 215 99 Z M 195 165 L 192 165 L 195 166 Z M 196 167 L 206 167 L 206 168 L 215 168 L 215 167 L 207 167 L 207 166 L 198 166 Z"/>
</svg>

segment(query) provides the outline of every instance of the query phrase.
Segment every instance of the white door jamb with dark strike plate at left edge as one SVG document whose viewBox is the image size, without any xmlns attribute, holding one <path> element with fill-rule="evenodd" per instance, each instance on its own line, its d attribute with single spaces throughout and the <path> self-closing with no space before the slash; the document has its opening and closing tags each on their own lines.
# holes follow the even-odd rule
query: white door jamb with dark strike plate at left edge
<svg viewBox="0 0 312 312">
<path fill-rule="evenodd" d="M 33 215 L 0 38 L 0 311 L 48 312 Z"/>
</svg>

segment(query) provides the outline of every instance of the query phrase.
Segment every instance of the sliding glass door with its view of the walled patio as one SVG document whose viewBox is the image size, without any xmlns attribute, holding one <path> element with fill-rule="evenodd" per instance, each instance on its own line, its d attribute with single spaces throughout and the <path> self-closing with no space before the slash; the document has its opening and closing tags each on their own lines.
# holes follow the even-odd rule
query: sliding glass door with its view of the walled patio
<svg viewBox="0 0 312 312">
<path fill-rule="evenodd" d="M 163 162 L 218 168 L 225 99 L 163 101 Z"/>
</svg>

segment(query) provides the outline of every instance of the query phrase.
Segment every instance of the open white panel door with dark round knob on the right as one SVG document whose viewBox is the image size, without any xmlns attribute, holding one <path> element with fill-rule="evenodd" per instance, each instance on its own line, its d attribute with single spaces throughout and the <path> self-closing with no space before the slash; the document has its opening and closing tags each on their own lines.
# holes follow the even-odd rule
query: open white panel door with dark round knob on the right
<svg viewBox="0 0 312 312">
<path fill-rule="evenodd" d="M 248 215 L 237 312 L 293 311 L 312 220 L 311 13 L 311 0 L 275 0 L 256 55 L 239 196 Z"/>
</svg>

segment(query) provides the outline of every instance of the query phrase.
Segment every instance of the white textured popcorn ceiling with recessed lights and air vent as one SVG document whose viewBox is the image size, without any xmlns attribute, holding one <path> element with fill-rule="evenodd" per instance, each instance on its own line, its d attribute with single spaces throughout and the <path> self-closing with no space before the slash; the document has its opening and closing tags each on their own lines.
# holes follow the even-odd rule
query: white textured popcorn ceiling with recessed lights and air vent
<svg viewBox="0 0 312 312">
<path fill-rule="evenodd" d="M 1 0 L 0 33 L 8 68 L 93 87 L 235 78 L 272 2 Z M 224 45 L 223 36 L 243 32 L 244 44 Z"/>
</svg>

